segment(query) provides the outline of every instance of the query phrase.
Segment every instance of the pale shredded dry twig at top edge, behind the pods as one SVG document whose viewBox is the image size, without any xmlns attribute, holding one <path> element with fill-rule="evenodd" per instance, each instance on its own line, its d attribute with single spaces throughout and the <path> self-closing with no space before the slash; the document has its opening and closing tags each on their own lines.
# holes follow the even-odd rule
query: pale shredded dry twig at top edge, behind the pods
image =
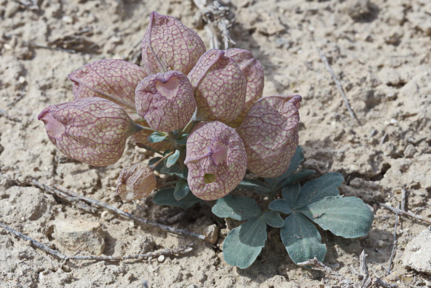
<svg viewBox="0 0 431 288">
<path fill-rule="evenodd" d="M 193 0 L 199 8 L 200 18 L 206 22 L 206 33 L 209 37 L 210 49 L 221 49 L 219 35 L 223 39 L 224 49 L 228 49 L 231 39 L 230 30 L 235 22 L 231 9 L 224 6 L 219 0 Z"/>
</svg>

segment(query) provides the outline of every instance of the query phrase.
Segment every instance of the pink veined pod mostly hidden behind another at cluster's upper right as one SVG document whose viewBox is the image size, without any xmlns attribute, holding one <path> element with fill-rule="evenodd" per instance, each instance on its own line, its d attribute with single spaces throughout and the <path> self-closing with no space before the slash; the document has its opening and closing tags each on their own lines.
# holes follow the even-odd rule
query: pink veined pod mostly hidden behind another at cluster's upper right
<svg viewBox="0 0 431 288">
<path fill-rule="evenodd" d="M 234 121 L 227 123 L 229 126 L 235 128 L 244 120 L 250 107 L 262 97 L 264 74 L 262 64 L 254 59 L 250 51 L 232 48 L 225 50 L 225 56 L 234 59 L 247 81 L 247 92 L 243 108 Z"/>
</svg>

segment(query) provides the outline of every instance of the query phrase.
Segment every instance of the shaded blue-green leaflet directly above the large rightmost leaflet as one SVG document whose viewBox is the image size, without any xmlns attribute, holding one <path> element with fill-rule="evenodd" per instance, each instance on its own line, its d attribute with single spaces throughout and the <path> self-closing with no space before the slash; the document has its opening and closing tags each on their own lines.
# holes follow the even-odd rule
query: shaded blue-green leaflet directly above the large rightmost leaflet
<svg viewBox="0 0 431 288">
<path fill-rule="evenodd" d="M 339 195 L 338 187 L 344 182 L 340 173 L 328 173 L 314 180 L 310 180 L 302 186 L 295 203 L 295 209 L 326 196 Z"/>
</svg>

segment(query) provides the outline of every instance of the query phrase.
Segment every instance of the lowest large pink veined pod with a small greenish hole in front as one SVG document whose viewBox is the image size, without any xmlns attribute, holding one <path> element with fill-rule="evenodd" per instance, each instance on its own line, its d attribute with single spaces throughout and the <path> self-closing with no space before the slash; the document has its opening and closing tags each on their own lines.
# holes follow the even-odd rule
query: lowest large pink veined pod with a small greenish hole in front
<svg viewBox="0 0 431 288">
<path fill-rule="evenodd" d="M 222 198 L 243 180 L 247 169 L 244 143 L 219 121 L 200 122 L 187 138 L 184 164 L 190 190 L 203 200 Z"/>
</svg>

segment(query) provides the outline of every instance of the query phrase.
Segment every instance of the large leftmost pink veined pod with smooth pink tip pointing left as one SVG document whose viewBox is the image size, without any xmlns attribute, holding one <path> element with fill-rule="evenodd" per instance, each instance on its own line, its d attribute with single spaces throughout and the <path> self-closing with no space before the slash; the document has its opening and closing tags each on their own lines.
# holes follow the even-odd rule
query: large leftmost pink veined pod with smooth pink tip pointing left
<svg viewBox="0 0 431 288">
<path fill-rule="evenodd" d="M 49 105 L 37 119 L 62 153 L 94 166 L 117 162 L 126 139 L 140 130 L 121 106 L 100 97 Z"/>
</svg>

